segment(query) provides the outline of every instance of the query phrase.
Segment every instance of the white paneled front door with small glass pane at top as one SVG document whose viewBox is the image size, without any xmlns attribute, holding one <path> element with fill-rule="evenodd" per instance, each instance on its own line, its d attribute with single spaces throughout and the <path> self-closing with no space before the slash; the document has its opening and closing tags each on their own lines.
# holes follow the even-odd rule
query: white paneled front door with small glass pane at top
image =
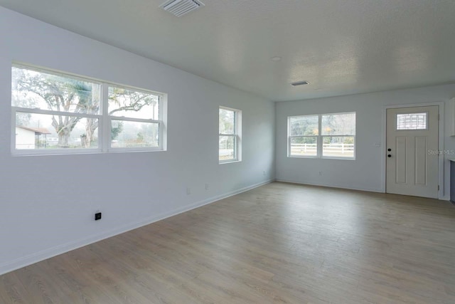
<svg viewBox="0 0 455 304">
<path fill-rule="evenodd" d="M 387 109 L 386 192 L 438 198 L 439 108 Z"/>
</svg>

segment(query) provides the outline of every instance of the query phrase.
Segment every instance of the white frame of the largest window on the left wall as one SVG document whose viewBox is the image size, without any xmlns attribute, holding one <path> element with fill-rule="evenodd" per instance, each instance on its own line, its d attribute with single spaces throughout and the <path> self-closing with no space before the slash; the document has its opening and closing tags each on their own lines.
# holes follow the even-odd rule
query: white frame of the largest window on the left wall
<svg viewBox="0 0 455 304">
<path fill-rule="evenodd" d="M 96 80 L 93 78 L 82 77 L 71 73 L 64 73 L 47 68 L 37 68 L 33 65 L 25 65 L 23 63 L 13 63 L 12 68 L 23 68 L 33 70 L 38 73 L 47 73 L 51 75 L 58 75 L 64 78 L 72 78 L 81 81 L 87 81 L 100 85 L 100 114 L 87 114 L 87 113 L 74 113 L 62 112 L 55 110 L 43 110 L 38 108 L 21 108 L 11 105 L 11 154 L 13 156 L 27 156 L 27 155 L 49 155 L 49 154 L 90 154 L 90 153 L 109 153 L 109 152 L 153 152 L 153 151 L 166 151 L 166 121 L 167 121 L 167 94 L 159 93 L 153 90 L 145 90 L 143 88 L 136 88 L 130 85 L 121 85 L 118 83 L 111 83 L 107 81 Z M 141 118 L 131 118 L 122 116 L 113 116 L 108 113 L 108 90 L 109 87 L 124 88 L 127 90 L 134 90 L 139 93 L 153 94 L 159 98 L 159 118 L 160 120 L 149 120 Z M 59 115 L 59 116 L 73 116 L 73 117 L 86 117 L 97 118 L 97 148 L 61 148 L 61 149 L 16 149 L 16 113 L 25 112 L 30 114 L 45 114 L 45 115 Z M 159 146 L 158 147 L 111 147 L 111 122 L 112 120 L 132 121 L 132 122 L 154 122 L 159 123 Z"/>
</svg>

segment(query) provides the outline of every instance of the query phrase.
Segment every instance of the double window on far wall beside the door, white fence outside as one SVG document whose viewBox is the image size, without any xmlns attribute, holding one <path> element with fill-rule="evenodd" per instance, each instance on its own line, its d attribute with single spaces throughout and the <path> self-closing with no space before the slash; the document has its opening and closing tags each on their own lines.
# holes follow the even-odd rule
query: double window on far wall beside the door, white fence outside
<svg viewBox="0 0 455 304">
<path fill-rule="evenodd" d="M 355 159 L 355 112 L 288 117 L 288 157 Z"/>
</svg>

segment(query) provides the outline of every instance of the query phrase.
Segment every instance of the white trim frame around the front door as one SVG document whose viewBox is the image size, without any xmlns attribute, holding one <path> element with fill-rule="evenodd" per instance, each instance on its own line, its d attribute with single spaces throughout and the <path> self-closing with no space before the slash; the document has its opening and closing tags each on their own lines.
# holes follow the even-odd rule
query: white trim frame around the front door
<svg viewBox="0 0 455 304">
<path fill-rule="evenodd" d="M 383 105 L 382 106 L 382 157 L 381 157 L 381 167 L 382 167 L 382 192 L 385 193 L 385 176 L 386 176 L 386 165 L 385 165 L 385 149 L 387 149 L 387 109 L 396 109 L 396 108 L 412 108 L 412 107 L 425 107 L 429 105 L 438 105 L 439 106 L 439 139 L 438 139 L 438 149 L 439 151 L 444 151 L 444 102 L 435 102 L 435 103 L 409 103 L 405 105 Z M 444 154 L 440 153 L 438 157 L 438 184 L 439 192 L 438 198 L 442 199 L 444 197 Z"/>
</svg>

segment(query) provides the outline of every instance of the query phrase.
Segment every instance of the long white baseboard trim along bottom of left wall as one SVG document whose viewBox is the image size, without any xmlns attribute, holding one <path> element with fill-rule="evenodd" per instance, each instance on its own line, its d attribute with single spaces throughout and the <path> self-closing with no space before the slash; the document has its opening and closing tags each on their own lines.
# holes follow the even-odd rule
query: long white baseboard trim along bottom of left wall
<svg viewBox="0 0 455 304">
<path fill-rule="evenodd" d="M 29 266 L 33 263 L 38 263 L 40 261 L 46 260 L 48 258 L 52 258 L 53 256 L 58 256 L 62 253 L 66 253 L 68 251 L 72 251 L 74 249 L 90 245 L 91 243 L 95 243 L 97 241 L 102 241 L 103 239 L 108 239 L 112 236 L 117 236 L 118 234 L 123 234 L 124 232 L 137 229 L 141 226 L 146 226 L 152 224 L 156 221 L 161 221 L 162 219 L 166 219 L 171 216 L 175 216 L 177 214 L 181 214 L 186 211 L 190 211 L 192 209 L 199 208 L 201 206 L 205 206 L 207 204 L 212 204 L 215 201 L 219 201 L 220 199 L 228 198 L 229 196 L 233 196 L 235 194 L 240 194 L 242 192 L 247 192 L 251 189 L 255 189 L 257 187 L 261 187 L 264 184 L 269 184 L 274 182 L 274 179 L 269 179 L 265 182 L 260 182 L 258 184 L 252 184 L 248 187 L 244 187 L 241 189 L 237 189 L 225 194 L 220 194 L 217 196 L 210 197 L 208 199 L 204 199 L 203 201 L 198 201 L 196 203 L 190 204 L 188 206 L 183 206 L 178 209 L 174 209 L 172 211 L 164 212 L 157 216 L 152 216 L 147 219 L 142 219 L 141 221 L 137 221 L 132 224 L 127 224 L 121 226 L 117 229 L 112 229 L 109 231 L 102 232 L 100 234 L 95 234 L 95 236 L 90 236 L 87 238 L 79 239 L 77 241 L 70 241 L 68 243 L 63 243 L 61 245 L 45 249 L 43 251 L 38 251 L 36 253 L 29 254 L 28 256 L 23 256 L 21 258 L 17 258 L 13 261 L 8 261 L 6 263 L 0 264 L 0 275 L 4 273 L 9 273 L 10 271 L 15 271 L 16 269 L 23 268 L 25 266 Z"/>
</svg>

